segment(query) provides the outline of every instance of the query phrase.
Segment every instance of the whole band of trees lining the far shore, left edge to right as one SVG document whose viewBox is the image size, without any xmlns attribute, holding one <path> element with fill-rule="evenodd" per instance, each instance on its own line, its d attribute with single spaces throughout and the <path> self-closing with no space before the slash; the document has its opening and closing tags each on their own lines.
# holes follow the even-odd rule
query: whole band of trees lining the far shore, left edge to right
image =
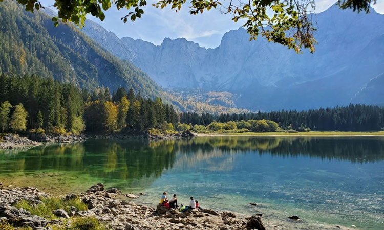
<svg viewBox="0 0 384 230">
<path fill-rule="evenodd" d="M 248 124 L 249 123 L 249 124 Z M 36 75 L 0 74 L 0 130 L 81 133 L 192 129 L 276 131 L 374 131 L 384 127 L 384 108 L 369 105 L 320 108 L 309 111 L 258 113 L 176 113 L 160 98 L 145 99 L 130 88 L 90 93 L 73 84 Z M 196 127 L 197 127 L 196 126 Z M 220 127 L 219 127 L 220 126 Z M 227 127 L 228 126 L 228 127 Z M 267 127 L 267 128 L 266 128 Z M 204 127 L 197 127 L 202 129 Z"/>
</svg>

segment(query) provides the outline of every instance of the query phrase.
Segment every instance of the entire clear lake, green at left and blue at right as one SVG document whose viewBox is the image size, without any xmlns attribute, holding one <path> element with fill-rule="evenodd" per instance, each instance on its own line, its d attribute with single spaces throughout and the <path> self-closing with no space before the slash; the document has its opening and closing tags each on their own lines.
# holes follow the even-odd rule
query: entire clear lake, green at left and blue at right
<svg viewBox="0 0 384 230">
<path fill-rule="evenodd" d="M 384 137 L 196 137 L 87 140 L 0 151 L 3 186 L 80 193 L 95 183 L 286 229 L 384 229 Z M 257 206 L 250 205 L 257 203 Z M 302 221 L 290 221 L 297 215 Z"/>
</svg>

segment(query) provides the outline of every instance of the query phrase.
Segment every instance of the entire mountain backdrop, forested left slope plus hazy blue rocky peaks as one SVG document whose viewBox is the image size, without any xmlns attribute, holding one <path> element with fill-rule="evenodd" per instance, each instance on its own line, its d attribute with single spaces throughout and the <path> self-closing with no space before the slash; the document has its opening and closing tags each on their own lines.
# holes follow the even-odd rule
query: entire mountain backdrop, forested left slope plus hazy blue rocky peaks
<svg viewBox="0 0 384 230">
<path fill-rule="evenodd" d="M 161 45 L 120 39 L 88 19 L 81 30 L 56 28 L 53 15 L 0 3 L 0 74 L 36 73 L 90 90 L 133 87 L 181 111 L 384 106 L 384 15 L 373 9 L 358 14 L 332 6 L 311 14 L 314 54 L 296 54 L 262 37 L 249 41 L 242 28 L 205 49 L 184 38 L 165 38 Z"/>
</svg>

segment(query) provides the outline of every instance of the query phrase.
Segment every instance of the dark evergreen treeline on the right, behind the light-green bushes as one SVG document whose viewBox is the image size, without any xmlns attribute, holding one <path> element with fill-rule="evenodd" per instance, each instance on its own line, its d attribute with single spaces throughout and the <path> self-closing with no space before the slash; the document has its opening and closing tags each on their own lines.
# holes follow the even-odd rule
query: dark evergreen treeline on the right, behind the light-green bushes
<svg viewBox="0 0 384 230">
<path fill-rule="evenodd" d="M 282 110 L 257 113 L 182 113 L 180 122 L 209 125 L 217 121 L 270 120 L 282 129 L 299 130 L 300 127 L 317 131 L 378 131 L 384 129 L 384 108 L 372 105 L 349 105 L 346 107 L 320 108 L 308 111 Z"/>
</svg>

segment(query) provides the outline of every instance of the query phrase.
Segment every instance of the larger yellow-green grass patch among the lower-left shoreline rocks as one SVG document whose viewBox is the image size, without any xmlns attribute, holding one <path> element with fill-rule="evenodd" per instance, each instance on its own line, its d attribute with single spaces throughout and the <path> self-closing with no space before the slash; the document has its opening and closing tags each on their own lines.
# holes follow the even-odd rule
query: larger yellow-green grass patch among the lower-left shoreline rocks
<svg viewBox="0 0 384 230">
<path fill-rule="evenodd" d="M 41 217 L 50 217 L 53 215 L 52 211 L 57 209 L 63 209 L 66 212 L 69 212 L 71 206 L 74 206 L 78 211 L 88 210 L 88 206 L 78 197 L 67 201 L 64 201 L 59 197 L 40 197 L 39 199 L 42 203 L 37 205 L 30 201 L 22 200 L 17 202 L 14 206 L 19 209 L 23 208 L 28 210 L 31 214 Z"/>
</svg>

